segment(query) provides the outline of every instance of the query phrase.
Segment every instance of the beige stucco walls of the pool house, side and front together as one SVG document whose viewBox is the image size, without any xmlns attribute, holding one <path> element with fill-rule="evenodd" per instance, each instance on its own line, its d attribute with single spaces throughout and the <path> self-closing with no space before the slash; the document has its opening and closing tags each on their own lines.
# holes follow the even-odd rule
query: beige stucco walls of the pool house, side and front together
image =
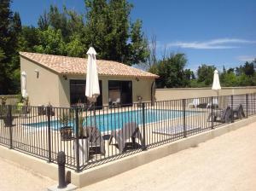
<svg viewBox="0 0 256 191">
<path fill-rule="evenodd" d="M 35 70 L 39 72 L 39 78 Z M 26 72 L 26 89 L 32 106 L 51 104 L 55 107 L 70 107 L 70 79 L 85 79 L 85 75 L 59 75 L 48 68 L 28 61 L 20 56 L 20 71 Z M 132 101 L 137 101 L 137 96 L 142 96 L 143 101 L 151 100 L 151 84 L 154 78 L 99 76 L 102 80 L 102 103 L 108 105 L 108 80 L 131 80 Z"/>
</svg>

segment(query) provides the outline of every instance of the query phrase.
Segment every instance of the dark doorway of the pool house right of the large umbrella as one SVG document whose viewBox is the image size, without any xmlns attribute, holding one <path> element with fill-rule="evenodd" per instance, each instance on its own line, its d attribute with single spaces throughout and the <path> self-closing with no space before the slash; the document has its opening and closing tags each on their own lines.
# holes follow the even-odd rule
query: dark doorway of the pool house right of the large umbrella
<svg viewBox="0 0 256 191">
<path fill-rule="evenodd" d="M 132 82 L 131 81 L 108 81 L 109 105 L 131 105 L 132 104 Z"/>
</svg>

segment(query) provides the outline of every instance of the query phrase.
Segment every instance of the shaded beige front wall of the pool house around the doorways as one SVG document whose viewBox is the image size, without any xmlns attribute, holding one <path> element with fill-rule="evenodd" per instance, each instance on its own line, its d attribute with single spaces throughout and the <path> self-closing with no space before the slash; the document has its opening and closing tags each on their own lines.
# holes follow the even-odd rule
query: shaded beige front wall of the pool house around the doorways
<svg viewBox="0 0 256 191">
<path fill-rule="evenodd" d="M 67 80 L 60 76 L 59 81 L 59 93 L 60 93 L 60 106 L 69 107 L 70 100 L 70 79 L 85 79 L 85 75 L 67 75 Z M 139 78 L 137 81 L 130 77 L 109 77 L 109 76 L 99 76 L 99 80 L 102 80 L 102 103 L 103 105 L 108 105 L 108 80 L 127 80 L 132 82 L 132 101 L 137 101 L 137 96 L 142 96 L 143 101 L 151 101 L 151 84 L 154 82 L 153 78 Z"/>
</svg>

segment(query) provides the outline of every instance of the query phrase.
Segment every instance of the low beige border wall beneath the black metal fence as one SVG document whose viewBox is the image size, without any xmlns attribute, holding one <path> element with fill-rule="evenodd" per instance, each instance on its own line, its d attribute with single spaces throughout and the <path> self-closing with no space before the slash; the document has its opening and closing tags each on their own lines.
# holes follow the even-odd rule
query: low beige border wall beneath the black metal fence
<svg viewBox="0 0 256 191">
<path fill-rule="evenodd" d="M 226 124 L 214 130 L 208 130 L 194 136 L 180 139 L 176 142 L 170 142 L 159 147 L 150 148 L 147 151 L 132 154 L 122 159 L 114 160 L 103 165 L 98 165 L 80 173 L 67 170 L 67 177 L 70 177 L 71 183 L 78 186 L 79 188 L 88 186 L 92 183 L 116 176 L 122 172 L 129 171 L 139 165 L 145 165 L 154 161 L 155 159 L 166 157 L 167 155 L 177 153 L 178 151 L 186 148 L 195 147 L 201 142 L 206 142 L 207 140 L 210 140 L 214 137 L 224 135 L 231 130 L 237 130 L 255 121 L 256 116 L 250 117 L 248 119 L 242 119 L 240 121 L 236 121 L 236 123 L 233 124 Z M 3 146 L 0 147 L 0 157 L 25 166 L 26 168 L 38 172 L 45 177 L 50 177 L 55 181 L 58 180 L 57 165 L 47 163 L 43 159 L 38 159 L 26 153 L 20 153 L 19 151 L 5 148 Z"/>
</svg>

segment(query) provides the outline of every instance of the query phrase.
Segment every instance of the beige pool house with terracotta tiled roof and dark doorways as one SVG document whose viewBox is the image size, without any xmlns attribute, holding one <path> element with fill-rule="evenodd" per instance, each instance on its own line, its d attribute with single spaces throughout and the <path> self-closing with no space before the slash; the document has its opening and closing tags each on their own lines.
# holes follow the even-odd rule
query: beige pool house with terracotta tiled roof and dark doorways
<svg viewBox="0 0 256 191">
<path fill-rule="evenodd" d="M 151 101 L 157 75 L 116 61 L 97 60 L 101 95 L 96 106 Z M 70 107 L 86 102 L 87 59 L 20 52 L 20 72 L 26 72 L 26 90 L 32 106 Z"/>
</svg>

